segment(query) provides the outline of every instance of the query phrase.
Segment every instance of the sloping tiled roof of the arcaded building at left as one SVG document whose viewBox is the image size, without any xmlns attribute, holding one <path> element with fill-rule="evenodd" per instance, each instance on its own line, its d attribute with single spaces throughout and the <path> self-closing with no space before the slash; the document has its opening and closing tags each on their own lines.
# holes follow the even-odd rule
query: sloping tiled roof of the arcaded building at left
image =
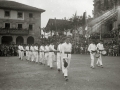
<svg viewBox="0 0 120 90">
<path fill-rule="evenodd" d="M 0 1 L 1 9 L 12 9 L 12 10 L 23 10 L 23 11 L 35 11 L 35 12 L 44 12 L 45 10 L 18 3 L 15 1 Z"/>
</svg>

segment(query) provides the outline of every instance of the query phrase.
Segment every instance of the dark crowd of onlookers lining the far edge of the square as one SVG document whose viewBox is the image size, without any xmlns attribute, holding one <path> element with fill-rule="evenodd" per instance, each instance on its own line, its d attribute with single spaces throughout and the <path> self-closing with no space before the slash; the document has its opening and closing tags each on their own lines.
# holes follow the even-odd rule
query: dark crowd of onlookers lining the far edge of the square
<svg viewBox="0 0 120 90">
<path fill-rule="evenodd" d="M 54 42 L 57 42 L 61 38 L 63 37 L 50 37 L 43 41 L 46 43 L 51 42 L 51 40 Z M 72 54 L 89 54 L 87 50 L 89 43 L 90 41 L 80 42 L 77 44 L 72 43 Z M 55 47 L 57 48 L 57 44 L 56 43 L 54 44 L 55 44 Z M 96 40 L 96 44 L 97 44 L 97 40 Z M 107 51 L 108 56 L 119 56 L 120 55 L 120 44 L 118 44 L 116 40 L 104 41 L 104 47 L 105 47 L 105 50 Z M 15 45 L 15 44 L 12 44 L 12 45 L 1 44 L 0 45 L 0 56 L 17 56 L 17 55 L 18 55 L 18 45 Z"/>
</svg>

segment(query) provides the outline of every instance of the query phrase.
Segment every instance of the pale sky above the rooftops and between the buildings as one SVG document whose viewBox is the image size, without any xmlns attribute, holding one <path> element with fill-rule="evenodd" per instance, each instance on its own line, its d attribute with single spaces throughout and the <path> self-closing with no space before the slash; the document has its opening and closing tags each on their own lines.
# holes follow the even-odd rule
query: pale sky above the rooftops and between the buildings
<svg viewBox="0 0 120 90">
<path fill-rule="evenodd" d="M 69 19 L 77 12 L 78 16 L 87 12 L 87 15 L 92 16 L 93 0 L 9 0 L 27 4 L 33 7 L 44 9 L 41 14 L 41 27 L 47 25 L 51 19 Z"/>
</svg>

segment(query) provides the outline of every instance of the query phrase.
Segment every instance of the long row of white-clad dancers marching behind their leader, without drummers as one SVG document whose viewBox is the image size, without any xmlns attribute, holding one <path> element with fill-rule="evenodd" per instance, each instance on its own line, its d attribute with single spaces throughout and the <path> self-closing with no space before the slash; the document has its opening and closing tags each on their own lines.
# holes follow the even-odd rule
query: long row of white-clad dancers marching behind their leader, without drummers
<svg viewBox="0 0 120 90">
<path fill-rule="evenodd" d="M 53 62 L 55 60 L 55 53 L 57 53 L 57 69 L 62 71 L 64 78 L 68 81 L 68 68 L 70 66 L 71 60 L 71 50 L 72 44 L 70 43 L 70 38 L 64 38 L 64 42 L 59 42 L 57 50 L 54 48 L 54 44 L 41 44 L 36 45 L 26 45 L 24 48 L 22 45 L 18 46 L 19 58 L 23 60 L 24 52 L 26 52 L 26 60 L 31 62 L 40 63 L 47 65 L 51 69 L 53 68 Z"/>
</svg>

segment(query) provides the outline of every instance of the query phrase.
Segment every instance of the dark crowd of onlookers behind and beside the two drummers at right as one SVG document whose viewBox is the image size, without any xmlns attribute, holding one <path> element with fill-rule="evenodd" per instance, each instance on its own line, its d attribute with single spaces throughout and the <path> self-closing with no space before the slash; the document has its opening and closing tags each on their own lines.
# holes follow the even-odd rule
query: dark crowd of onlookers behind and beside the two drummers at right
<svg viewBox="0 0 120 90">
<path fill-rule="evenodd" d="M 91 40 L 90 40 L 91 41 Z M 90 43 L 89 41 L 89 43 Z M 95 44 L 97 44 L 99 41 L 94 40 Z M 72 53 L 73 54 L 89 54 L 87 48 L 89 43 L 80 43 L 73 46 Z M 117 44 L 114 42 L 114 40 L 104 42 L 104 47 L 107 51 L 106 56 L 119 56 L 120 55 L 120 44 Z"/>
</svg>

